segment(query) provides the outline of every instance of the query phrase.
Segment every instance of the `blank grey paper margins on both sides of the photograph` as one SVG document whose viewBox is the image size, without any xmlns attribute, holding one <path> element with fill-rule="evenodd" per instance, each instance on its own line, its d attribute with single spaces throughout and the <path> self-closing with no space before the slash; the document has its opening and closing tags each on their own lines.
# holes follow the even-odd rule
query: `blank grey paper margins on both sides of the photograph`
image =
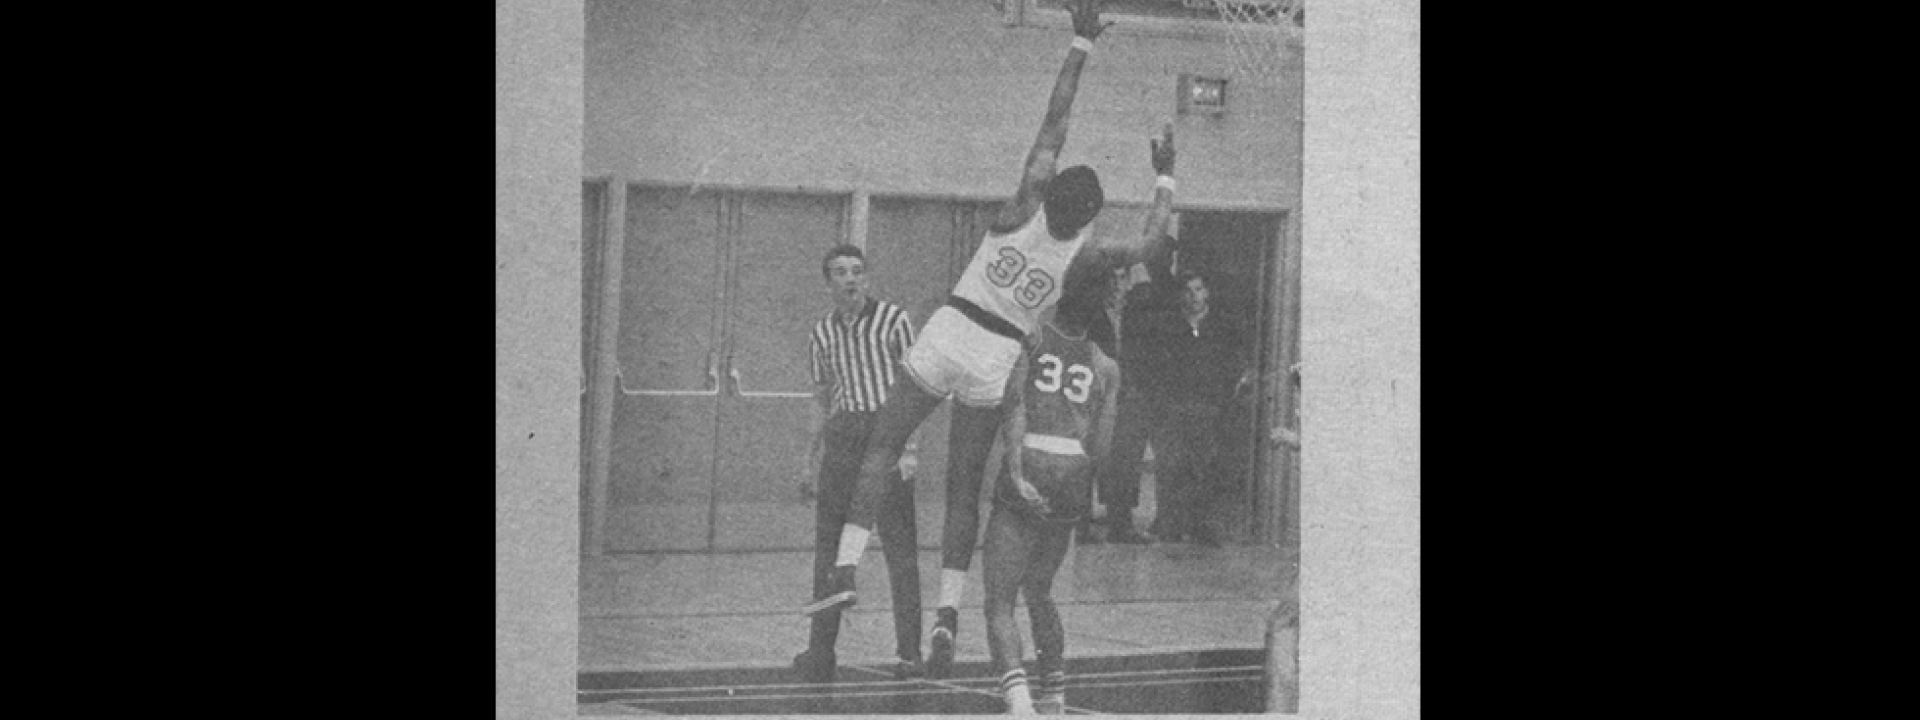
<svg viewBox="0 0 1920 720">
<path fill-rule="evenodd" d="M 495 716 L 578 716 L 584 4 L 495 4 Z M 1300 716 L 1419 714 L 1419 6 L 1317 4 Z"/>
</svg>

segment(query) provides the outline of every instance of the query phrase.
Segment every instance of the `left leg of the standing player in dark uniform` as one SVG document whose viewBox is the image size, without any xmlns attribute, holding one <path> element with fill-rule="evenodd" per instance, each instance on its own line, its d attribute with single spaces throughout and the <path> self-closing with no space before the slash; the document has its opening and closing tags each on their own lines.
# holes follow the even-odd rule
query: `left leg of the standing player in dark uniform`
<svg viewBox="0 0 1920 720">
<path fill-rule="evenodd" d="M 1025 649 L 1020 641 L 1020 624 L 1014 620 L 1014 603 L 1020 599 L 1031 555 L 1027 530 L 1031 530 L 1027 518 L 995 503 L 993 516 L 987 518 L 987 547 L 981 559 L 987 653 L 993 655 L 993 672 L 1000 678 L 1000 693 L 1014 714 L 1033 714 L 1027 670 L 1020 664 Z"/>
</svg>

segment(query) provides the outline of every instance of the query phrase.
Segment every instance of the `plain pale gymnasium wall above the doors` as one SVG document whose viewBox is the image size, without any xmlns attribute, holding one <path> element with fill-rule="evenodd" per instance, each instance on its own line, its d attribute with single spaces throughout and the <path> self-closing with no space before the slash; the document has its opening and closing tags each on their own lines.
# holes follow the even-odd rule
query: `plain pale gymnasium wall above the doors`
<svg viewBox="0 0 1920 720">
<path fill-rule="evenodd" d="M 630 182 L 1006 198 L 1071 31 L 1008 27 L 987 0 L 589 0 L 584 173 Z M 1294 207 L 1286 92 L 1229 83 L 1185 117 L 1179 204 Z M 1060 165 L 1144 200 L 1146 136 L 1179 73 L 1229 75 L 1223 40 L 1110 29 L 1081 75 Z"/>
</svg>

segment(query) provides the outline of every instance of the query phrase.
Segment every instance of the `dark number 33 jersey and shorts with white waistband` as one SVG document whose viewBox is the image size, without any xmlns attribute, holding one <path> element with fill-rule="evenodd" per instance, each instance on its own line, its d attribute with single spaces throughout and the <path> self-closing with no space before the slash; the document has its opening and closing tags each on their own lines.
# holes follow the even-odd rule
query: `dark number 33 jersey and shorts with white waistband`
<svg viewBox="0 0 1920 720">
<path fill-rule="evenodd" d="M 1091 432 L 1119 382 L 1119 367 L 1091 338 L 1066 336 L 1050 323 L 1023 344 L 1021 363 L 1027 363 L 1021 474 L 1046 497 L 1048 520 L 1079 520 L 1092 505 Z M 1006 467 L 995 499 L 1025 507 Z"/>
</svg>

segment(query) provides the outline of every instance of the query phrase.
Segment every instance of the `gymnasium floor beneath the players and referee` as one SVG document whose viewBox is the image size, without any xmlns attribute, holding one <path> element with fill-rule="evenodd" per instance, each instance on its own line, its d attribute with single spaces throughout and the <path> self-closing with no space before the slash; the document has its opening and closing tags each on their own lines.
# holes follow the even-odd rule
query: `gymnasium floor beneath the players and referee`
<svg viewBox="0 0 1920 720">
<path fill-rule="evenodd" d="M 582 714 L 995 714 L 979 557 L 960 609 L 952 678 L 893 680 L 885 563 L 860 563 L 831 685 L 787 670 L 806 647 L 799 607 L 812 553 L 607 555 L 580 564 Z M 1263 712 L 1267 618 L 1292 597 L 1298 553 L 1190 543 L 1077 545 L 1056 580 L 1068 632 L 1068 712 Z M 920 553 L 922 589 L 939 551 Z M 1027 637 L 1025 611 L 1018 611 Z M 931 628 L 933 607 L 925 605 Z"/>
</svg>

